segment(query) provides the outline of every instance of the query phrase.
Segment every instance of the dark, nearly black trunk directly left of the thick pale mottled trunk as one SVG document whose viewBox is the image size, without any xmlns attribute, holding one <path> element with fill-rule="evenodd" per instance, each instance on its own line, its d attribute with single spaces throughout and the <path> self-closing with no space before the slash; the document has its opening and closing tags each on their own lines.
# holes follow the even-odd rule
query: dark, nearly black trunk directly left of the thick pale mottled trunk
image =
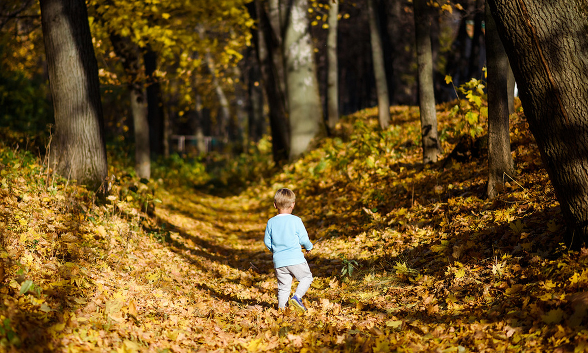
<svg viewBox="0 0 588 353">
<path fill-rule="evenodd" d="M 256 49 L 261 66 L 263 84 L 265 85 L 266 95 L 268 96 L 273 161 L 279 163 L 288 159 L 290 146 L 283 76 L 280 75 L 283 74 L 283 61 L 281 54 L 281 34 L 278 25 L 279 12 L 277 8 L 275 11 L 266 9 L 260 0 L 256 0 L 255 5 L 259 18 Z M 270 18 L 270 15 L 275 18 Z M 278 32 L 272 27 L 273 22 L 277 23 Z"/>
</svg>

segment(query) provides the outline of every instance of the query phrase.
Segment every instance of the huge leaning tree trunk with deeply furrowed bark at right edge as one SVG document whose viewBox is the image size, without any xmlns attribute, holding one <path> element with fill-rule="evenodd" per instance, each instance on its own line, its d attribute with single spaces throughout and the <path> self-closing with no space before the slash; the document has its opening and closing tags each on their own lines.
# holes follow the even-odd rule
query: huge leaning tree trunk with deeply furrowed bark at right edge
<svg viewBox="0 0 588 353">
<path fill-rule="evenodd" d="M 588 5 L 488 2 L 568 225 L 567 244 L 578 247 L 588 240 Z"/>
</svg>

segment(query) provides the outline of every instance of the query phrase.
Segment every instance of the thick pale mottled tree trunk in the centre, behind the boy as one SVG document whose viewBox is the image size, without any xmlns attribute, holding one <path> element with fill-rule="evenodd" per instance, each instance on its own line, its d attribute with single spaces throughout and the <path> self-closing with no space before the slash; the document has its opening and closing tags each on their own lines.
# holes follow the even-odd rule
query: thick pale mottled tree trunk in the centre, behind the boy
<svg viewBox="0 0 588 353">
<path fill-rule="evenodd" d="M 290 121 L 290 159 L 305 152 L 310 141 L 324 131 L 315 52 L 310 41 L 307 12 L 308 0 L 293 0 L 283 36 Z"/>
</svg>

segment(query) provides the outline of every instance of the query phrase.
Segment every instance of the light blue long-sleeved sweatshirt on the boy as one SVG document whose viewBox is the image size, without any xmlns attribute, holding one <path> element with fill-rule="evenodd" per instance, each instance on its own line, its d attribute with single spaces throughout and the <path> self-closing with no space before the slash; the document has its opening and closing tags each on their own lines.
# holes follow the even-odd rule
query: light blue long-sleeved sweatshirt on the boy
<svg viewBox="0 0 588 353">
<path fill-rule="evenodd" d="M 263 242 L 273 254 L 273 267 L 286 267 L 306 261 L 300 245 L 307 251 L 312 242 L 302 219 L 292 214 L 279 214 L 268 220 Z"/>
</svg>

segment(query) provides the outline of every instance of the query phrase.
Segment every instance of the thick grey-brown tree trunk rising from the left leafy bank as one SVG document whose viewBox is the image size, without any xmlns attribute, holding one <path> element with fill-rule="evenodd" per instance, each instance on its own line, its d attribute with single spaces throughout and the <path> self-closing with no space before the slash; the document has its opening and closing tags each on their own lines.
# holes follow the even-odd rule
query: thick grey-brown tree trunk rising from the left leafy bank
<svg viewBox="0 0 588 353">
<path fill-rule="evenodd" d="M 83 1 L 41 0 L 41 22 L 55 109 L 51 165 L 92 190 L 108 176 L 98 63 Z"/>
</svg>

